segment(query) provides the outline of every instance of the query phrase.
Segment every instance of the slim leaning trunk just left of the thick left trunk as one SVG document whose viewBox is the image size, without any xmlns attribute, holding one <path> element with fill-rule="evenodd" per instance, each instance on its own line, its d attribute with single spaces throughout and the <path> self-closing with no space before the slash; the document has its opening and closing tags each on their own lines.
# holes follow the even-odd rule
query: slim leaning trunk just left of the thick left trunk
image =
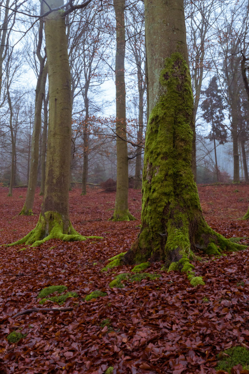
<svg viewBox="0 0 249 374">
<path fill-rule="evenodd" d="M 39 162 L 39 140 L 41 132 L 41 110 L 43 97 L 45 95 L 45 86 L 47 80 L 47 65 L 40 66 L 40 73 L 36 84 L 36 100 L 34 113 L 34 129 L 31 140 L 31 165 L 28 178 L 28 189 L 26 199 L 19 215 L 33 215 L 33 204 L 35 188 L 37 184 L 38 162 Z"/>
</svg>

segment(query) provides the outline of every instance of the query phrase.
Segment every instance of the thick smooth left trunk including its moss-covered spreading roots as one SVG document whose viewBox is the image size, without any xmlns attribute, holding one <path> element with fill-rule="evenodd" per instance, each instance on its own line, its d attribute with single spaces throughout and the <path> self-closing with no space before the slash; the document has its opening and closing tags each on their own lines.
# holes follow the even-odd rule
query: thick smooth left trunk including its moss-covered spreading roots
<svg viewBox="0 0 249 374">
<path fill-rule="evenodd" d="M 47 0 L 51 7 L 63 0 Z M 44 9 L 44 11 L 46 11 Z M 54 11 L 45 20 L 45 41 L 49 82 L 49 126 L 46 183 L 41 214 L 36 227 L 16 244 L 37 246 L 56 238 L 85 240 L 69 219 L 68 185 L 71 145 L 71 77 L 63 12 Z"/>
</svg>

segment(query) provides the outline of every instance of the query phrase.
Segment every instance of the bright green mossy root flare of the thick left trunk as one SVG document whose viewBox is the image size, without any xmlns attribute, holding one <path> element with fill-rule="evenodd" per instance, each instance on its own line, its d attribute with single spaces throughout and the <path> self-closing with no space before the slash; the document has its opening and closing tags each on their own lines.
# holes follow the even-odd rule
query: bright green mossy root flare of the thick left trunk
<svg viewBox="0 0 249 374">
<path fill-rule="evenodd" d="M 65 228 L 66 227 L 66 228 Z M 22 239 L 8 246 L 26 244 L 31 247 L 37 247 L 49 239 L 60 239 L 63 241 L 82 241 L 88 238 L 101 239 L 100 236 L 80 235 L 72 226 L 71 222 L 64 222 L 61 214 L 58 212 L 47 211 L 44 215 L 40 214 L 36 227 Z"/>
</svg>

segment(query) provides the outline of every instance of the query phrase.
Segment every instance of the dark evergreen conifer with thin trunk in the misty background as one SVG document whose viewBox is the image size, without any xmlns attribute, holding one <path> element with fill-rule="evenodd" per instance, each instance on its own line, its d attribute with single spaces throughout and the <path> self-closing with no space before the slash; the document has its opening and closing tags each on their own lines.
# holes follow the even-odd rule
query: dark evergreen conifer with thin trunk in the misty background
<svg viewBox="0 0 249 374">
<path fill-rule="evenodd" d="M 222 122 L 225 118 L 223 104 L 223 97 L 221 95 L 221 90 L 218 88 L 217 77 L 213 78 L 209 82 L 209 86 L 206 90 L 202 91 L 202 94 L 206 98 L 201 103 L 201 109 L 203 110 L 202 117 L 204 120 L 211 124 L 211 131 L 207 136 L 207 139 L 214 142 L 214 152 L 215 152 L 215 172 L 217 177 L 217 182 L 219 182 L 219 168 L 217 163 L 217 153 L 216 153 L 216 140 L 219 144 L 224 144 L 227 142 L 228 132 L 227 128 Z"/>
</svg>

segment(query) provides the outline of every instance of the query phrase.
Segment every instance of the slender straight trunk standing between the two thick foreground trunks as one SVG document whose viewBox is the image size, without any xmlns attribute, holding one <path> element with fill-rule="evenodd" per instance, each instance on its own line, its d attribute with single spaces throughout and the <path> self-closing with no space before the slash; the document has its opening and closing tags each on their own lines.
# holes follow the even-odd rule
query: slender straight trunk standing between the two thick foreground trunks
<svg viewBox="0 0 249 374">
<path fill-rule="evenodd" d="M 117 192 L 114 214 L 111 220 L 129 221 L 134 217 L 128 211 L 128 152 L 126 142 L 125 115 L 125 28 L 124 28 L 125 0 L 114 0 L 116 16 L 116 134 L 117 134 Z"/>
</svg>

